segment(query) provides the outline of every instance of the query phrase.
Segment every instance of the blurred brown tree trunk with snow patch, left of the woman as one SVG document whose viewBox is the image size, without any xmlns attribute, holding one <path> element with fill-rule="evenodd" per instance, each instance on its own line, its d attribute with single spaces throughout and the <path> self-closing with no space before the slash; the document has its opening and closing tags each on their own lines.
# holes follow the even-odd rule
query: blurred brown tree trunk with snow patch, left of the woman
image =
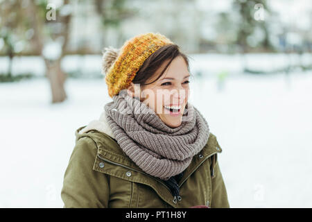
<svg viewBox="0 0 312 222">
<path fill-rule="evenodd" d="M 62 8 L 58 10 L 51 8 L 51 10 L 55 10 L 57 15 L 55 21 L 47 21 L 47 6 L 47 2 L 42 3 L 42 5 L 37 5 L 34 1 L 30 1 L 30 5 L 27 7 L 28 16 L 34 30 L 33 44 L 35 45 L 37 53 L 39 53 L 44 59 L 44 63 L 46 65 L 46 77 L 49 79 L 51 86 L 52 103 L 60 103 L 67 99 L 67 94 L 64 89 L 64 82 L 67 76 L 64 74 L 64 71 L 62 71 L 61 61 L 69 40 L 71 6 L 69 5 L 69 0 L 65 0 Z M 62 12 L 62 9 L 64 8 L 67 12 Z M 55 31 L 56 28 L 53 28 L 53 25 L 58 27 L 58 31 Z M 49 32 L 48 36 L 44 33 L 46 30 Z M 49 38 L 51 40 L 49 40 Z M 55 51 L 58 49 L 53 49 L 53 46 L 49 47 L 49 44 L 51 44 L 49 41 L 54 41 L 56 43 L 53 45 L 54 48 L 57 44 L 61 45 L 59 49 L 60 52 L 58 52 L 59 55 L 53 55 L 53 58 L 49 56 L 51 53 L 49 50 Z"/>
</svg>

